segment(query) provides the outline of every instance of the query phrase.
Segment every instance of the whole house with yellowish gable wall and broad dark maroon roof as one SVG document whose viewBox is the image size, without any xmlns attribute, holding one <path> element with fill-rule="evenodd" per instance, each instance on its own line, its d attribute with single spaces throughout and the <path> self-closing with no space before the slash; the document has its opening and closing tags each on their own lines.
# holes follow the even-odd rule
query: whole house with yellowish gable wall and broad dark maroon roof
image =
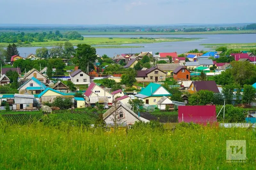
<svg viewBox="0 0 256 170">
<path fill-rule="evenodd" d="M 199 90 L 209 90 L 214 93 L 220 93 L 215 81 L 193 81 L 188 88 L 188 92 L 191 94 Z"/>
</svg>

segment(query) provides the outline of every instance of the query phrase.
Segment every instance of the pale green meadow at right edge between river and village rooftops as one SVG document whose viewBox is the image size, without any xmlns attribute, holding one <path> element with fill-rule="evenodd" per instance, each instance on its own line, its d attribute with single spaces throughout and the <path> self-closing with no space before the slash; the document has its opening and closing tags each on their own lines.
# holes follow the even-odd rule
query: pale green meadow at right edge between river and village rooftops
<svg viewBox="0 0 256 170">
<path fill-rule="evenodd" d="M 236 50 L 251 50 L 256 49 L 256 43 L 223 43 L 223 44 L 200 44 L 206 48 L 216 49 L 221 46 L 225 46 L 228 49 L 236 49 Z"/>
</svg>

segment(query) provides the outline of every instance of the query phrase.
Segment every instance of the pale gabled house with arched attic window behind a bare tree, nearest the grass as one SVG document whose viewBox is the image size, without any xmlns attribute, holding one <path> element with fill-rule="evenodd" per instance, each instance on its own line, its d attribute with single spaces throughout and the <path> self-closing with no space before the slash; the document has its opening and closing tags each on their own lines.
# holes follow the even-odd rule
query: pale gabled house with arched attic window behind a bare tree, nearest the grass
<svg viewBox="0 0 256 170">
<path fill-rule="evenodd" d="M 103 120 L 107 127 L 127 127 L 133 125 L 136 121 L 141 121 L 139 116 L 122 102 L 113 104 L 113 106 L 103 114 Z"/>
</svg>

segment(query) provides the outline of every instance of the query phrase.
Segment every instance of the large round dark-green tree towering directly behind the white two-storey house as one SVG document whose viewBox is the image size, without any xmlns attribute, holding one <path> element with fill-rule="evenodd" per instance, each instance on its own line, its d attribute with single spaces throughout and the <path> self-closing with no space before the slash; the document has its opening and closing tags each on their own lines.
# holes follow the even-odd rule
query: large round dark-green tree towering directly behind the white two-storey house
<svg viewBox="0 0 256 170">
<path fill-rule="evenodd" d="M 87 70 L 87 66 L 89 66 L 89 70 L 93 69 L 93 64 L 97 58 L 96 49 L 91 47 L 88 44 L 78 44 L 76 48 L 77 59 L 76 65 L 83 71 Z"/>
</svg>

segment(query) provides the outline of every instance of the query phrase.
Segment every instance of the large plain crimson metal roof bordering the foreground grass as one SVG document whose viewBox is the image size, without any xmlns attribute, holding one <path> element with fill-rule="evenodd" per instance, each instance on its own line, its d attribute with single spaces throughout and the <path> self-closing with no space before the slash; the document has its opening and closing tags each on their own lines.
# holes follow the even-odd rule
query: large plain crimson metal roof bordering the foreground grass
<svg viewBox="0 0 256 170">
<path fill-rule="evenodd" d="M 206 125 L 217 122 L 215 105 L 206 106 L 178 106 L 179 122 L 194 122 Z"/>
</svg>

